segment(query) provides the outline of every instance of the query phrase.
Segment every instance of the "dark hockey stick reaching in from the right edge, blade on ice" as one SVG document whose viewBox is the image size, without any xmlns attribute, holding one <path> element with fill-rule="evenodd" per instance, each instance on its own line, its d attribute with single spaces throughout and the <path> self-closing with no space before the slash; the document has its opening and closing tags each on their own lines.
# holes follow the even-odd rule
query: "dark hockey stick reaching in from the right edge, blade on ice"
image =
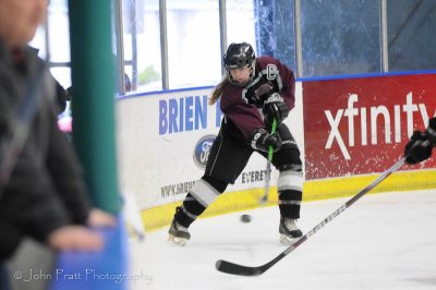
<svg viewBox="0 0 436 290">
<path fill-rule="evenodd" d="M 280 253 L 278 256 L 276 256 L 274 259 L 270 262 L 266 263 L 265 265 L 257 266 L 257 267 L 250 267 L 250 266 L 242 266 L 239 264 L 234 264 L 231 262 L 227 262 L 223 259 L 219 259 L 216 263 L 216 268 L 219 271 L 227 273 L 227 274 L 232 274 L 232 275 L 240 275 L 240 276 L 258 276 L 265 273 L 267 269 L 272 267 L 277 262 L 282 259 L 284 256 L 287 256 L 289 253 L 291 253 L 293 250 L 295 250 L 299 245 L 304 243 L 311 235 L 315 234 L 320 228 L 326 226 L 328 222 L 330 222 L 334 218 L 342 214 L 348 207 L 350 207 L 352 204 L 354 204 L 359 198 L 361 198 L 363 195 L 365 195 L 368 191 L 374 189 L 378 183 L 384 181 L 387 177 L 389 177 L 392 172 L 398 170 L 402 165 L 405 162 L 405 157 L 400 159 L 398 162 L 396 162 L 392 167 L 390 167 L 388 170 L 386 170 L 382 176 L 379 176 L 375 181 L 373 181 L 370 185 L 367 185 L 365 189 L 360 191 L 356 195 L 354 195 L 351 200 L 349 200 L 346 204 L 343 204 L 341 207 L 336 209 L 334 213 L 331 213 L 329 216 L 327 216 L 325 219 L 323 219 L 322 222 L 316 225 L 311 231 L 308 231 L 306 234 L 301 237 L 298 241 L 295 241 L 293 244 L 291 244 L 287 250 L 284 250 L 282 253 Z"/>
</svg>

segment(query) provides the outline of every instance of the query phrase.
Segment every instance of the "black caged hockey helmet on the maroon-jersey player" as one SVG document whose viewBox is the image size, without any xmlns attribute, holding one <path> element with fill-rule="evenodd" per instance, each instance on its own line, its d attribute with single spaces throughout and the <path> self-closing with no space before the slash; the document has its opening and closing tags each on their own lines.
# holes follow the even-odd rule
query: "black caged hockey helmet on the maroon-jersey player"
<svg viewBox="0 0 436 290">
<path fill-rule="evenodd" d="M 251 81 L 253 81 L 255 74 L 256 56 L 251 45 L 249 45 L 247 43 L 231 44 L 228 47 L 227 52 L 223 56 L 222 60 L 226 68 L 226 76 L 230 83 L 244 86 Z M 244 67 L 249 67 L 249 69 L 251 70 L 250 80 L 241 84 L 233 80 L 230 70 L 241 69 Z"/>
</svg>

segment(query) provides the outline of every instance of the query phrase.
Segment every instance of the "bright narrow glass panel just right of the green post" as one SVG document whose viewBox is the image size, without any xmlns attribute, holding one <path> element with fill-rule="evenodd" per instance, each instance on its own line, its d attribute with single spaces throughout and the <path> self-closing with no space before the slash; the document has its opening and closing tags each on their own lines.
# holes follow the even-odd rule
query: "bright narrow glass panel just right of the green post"
<svg viewBox="0 0 436 290">
<path fill-rule="evenodd" d="M 132 90 L 162 88 L 158 0 L 123 0 L 124 70 Z"/>
</svg>

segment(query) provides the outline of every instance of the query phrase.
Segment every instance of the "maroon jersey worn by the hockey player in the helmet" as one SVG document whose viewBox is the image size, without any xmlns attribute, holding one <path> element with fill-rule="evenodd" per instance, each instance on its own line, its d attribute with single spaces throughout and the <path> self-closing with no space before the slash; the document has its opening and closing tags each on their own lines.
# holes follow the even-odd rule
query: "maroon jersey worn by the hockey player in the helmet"
<svg viewBox="0 0 436 290">
<path fill-rule="evenodd" d="M 231 133 L 242 134 L 245 141 L 254 130 L 265 128 L 262 108 L 271 93 L 279 93 L 289 110 L 293 109 L 295 102 L 295 78 L 283 63 L 270 57 L 259 57 L 255 70 L 254 80 L 245 87 L 227 83 L 221 95 L 225 123 L 233 123 L 239 132 Z M 234 125 L 226 129 L 234 131 Z"/>
</svg>

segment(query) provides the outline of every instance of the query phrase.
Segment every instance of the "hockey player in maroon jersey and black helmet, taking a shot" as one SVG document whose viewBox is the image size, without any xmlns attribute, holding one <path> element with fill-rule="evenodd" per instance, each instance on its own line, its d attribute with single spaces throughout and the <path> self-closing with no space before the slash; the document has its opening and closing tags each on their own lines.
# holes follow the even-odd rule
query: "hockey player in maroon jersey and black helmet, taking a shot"
<svg viewBox="0 0 436 290">
<path fill-rule="evenodd" d="M 295 220 L 300 218 L 303 174 L 300 150 L 282 121 L 294 107 L 294 75 L 283 63 L 270 57 L 256 58 L 250 44 L 231 44 L 223 56 L 226 77 L 211 94 L 209 105 L 220 98 L 223 112 L 220 132 L 210 149 L 204 176 L 196 181 L 177 207 L 169 229 L 170 241 L 184 245 L 189 227 L 234 183 L 250 156 L 267 157 L 274 148 L 272 165 L 280 171 L 280 242 L 290 244 L 302 237 Z M 269 133 L 274 120 L 277 133 Z"/>
</svg>

